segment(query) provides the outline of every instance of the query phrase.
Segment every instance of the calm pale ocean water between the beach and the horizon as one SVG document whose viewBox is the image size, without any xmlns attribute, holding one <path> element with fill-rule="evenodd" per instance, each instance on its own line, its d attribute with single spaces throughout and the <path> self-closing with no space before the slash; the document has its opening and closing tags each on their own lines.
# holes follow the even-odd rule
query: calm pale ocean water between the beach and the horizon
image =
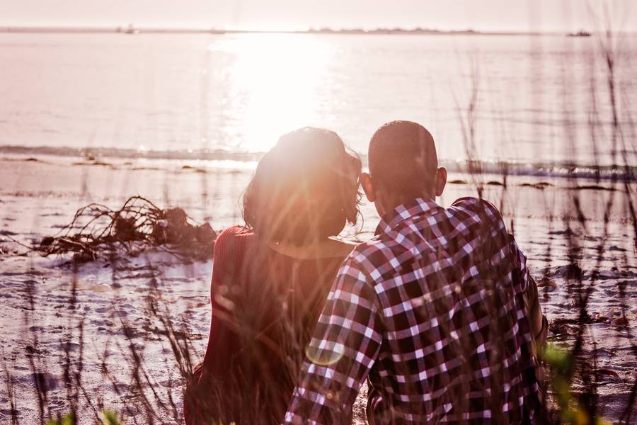
<svg viewBox="0 0 637 425">
<path fill-rule="evenodd" d="M 379 125 L 408 119 L 430 129 L 450 162 L 631 165 L 635 41 L 3 33 L 0 146 L 246 159 L 315 125 L 364 154 Z"/>
</svg>

